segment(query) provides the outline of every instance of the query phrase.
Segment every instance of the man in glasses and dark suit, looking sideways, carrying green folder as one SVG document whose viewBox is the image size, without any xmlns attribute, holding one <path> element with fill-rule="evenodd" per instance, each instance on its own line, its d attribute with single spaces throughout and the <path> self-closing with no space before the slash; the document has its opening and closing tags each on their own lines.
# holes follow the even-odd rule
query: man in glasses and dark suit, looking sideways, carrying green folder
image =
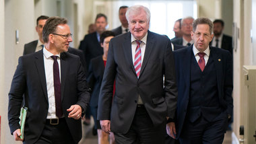
<svg viewBox="0 0 256 144">
<path fill-rule="evenodd" d="M 44 48 L 20 57 L 9 91 L 11 134 L 24 143 L 78 143 L 81 116 L 90 94 L 79 57 L 67 52 L 72 42 L 67 20 L 50 17 L 42 30 Z M 28 108 L 24 139 L 19 115 Z"/>
</svg>

